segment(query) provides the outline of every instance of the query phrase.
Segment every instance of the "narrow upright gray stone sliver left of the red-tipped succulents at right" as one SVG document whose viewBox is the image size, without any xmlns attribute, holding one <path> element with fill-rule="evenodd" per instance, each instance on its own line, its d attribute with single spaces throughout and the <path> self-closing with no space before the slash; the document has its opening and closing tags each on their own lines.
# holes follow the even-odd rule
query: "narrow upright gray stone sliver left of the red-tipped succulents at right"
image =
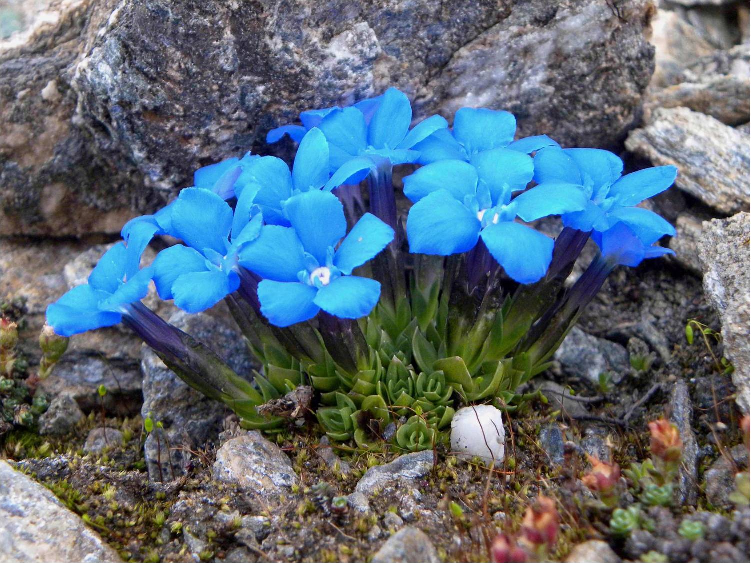
<svg viewBox="0 0 751 563">
<path fill-rule="evenodd" d="M 680 502 L 695 504 L 698 482 L 697 459 L 698 442 L 693 429 L 694 407 L 689 395 L 686 381 L 675 382 L 670 393 L 670 420 L 678 427 L 683 441 L 683 459 L 680 463 L 680 480 L 678 483 Z"/>
</svg>

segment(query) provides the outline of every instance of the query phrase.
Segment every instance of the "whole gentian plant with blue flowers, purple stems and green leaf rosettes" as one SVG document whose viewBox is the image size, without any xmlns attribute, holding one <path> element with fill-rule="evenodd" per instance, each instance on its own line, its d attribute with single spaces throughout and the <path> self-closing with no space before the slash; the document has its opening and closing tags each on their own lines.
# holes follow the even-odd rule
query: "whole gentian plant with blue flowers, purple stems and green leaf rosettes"
<svg viewBox="0 0 751 563">
<path fill-rule="evenodd" d="M 247 428 L 279 428 L 284 417 L 256 408 L 304 384 L 331 438 L 421 450 L 461 404 L 513 408 L 615 267 L 671 252 L 655 243 L 674 228 L 638 204 L 675 167 L 623 175 L 611 152 L 514 140 L 505 111 L 411 127 L 397 89 L 300 122 L 268 136 L 300 143 L 291 168 L 251 153 L 203 167 L 125 224 L 89 283 L 50 305 L 56 333 L 123 322 Z M 417 168 L 397 190 L 406 165 Z M 550 216 L 564 225 L 556 239 L 530 224 Z M 182 242 L 142 267 L 164 234 Z M 566 289 L 590 239 L 600 253 Z M 144 306 L 152 280 L 186 312 L 225 300 L 263 366 L 255 380 Z"/>
</svg>

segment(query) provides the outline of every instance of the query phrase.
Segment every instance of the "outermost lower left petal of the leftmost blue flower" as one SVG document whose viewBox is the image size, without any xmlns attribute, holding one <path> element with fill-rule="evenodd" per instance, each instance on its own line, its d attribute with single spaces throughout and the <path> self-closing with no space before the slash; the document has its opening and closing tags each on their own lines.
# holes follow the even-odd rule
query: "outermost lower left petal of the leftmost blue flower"
<svg viewBox="0 0 751 563">
<path fill-rule="evenodd" d="M 110 294 L 91 285 L 79 285 L 47 307 L 47 324 L 60 336 L 73 336 L 122 321 L 119 312 L 100 311 L 98 303 Z"/>
</svg>

